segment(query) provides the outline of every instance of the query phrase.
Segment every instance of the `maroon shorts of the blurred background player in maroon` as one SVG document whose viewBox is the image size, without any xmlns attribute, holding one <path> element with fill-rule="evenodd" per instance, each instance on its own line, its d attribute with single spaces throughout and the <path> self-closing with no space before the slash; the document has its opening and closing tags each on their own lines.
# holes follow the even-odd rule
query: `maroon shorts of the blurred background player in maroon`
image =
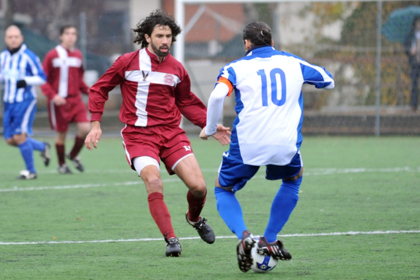
<svg viewBox="0 0 420 280">
<path fill-rule="evenodd" d="M 81 96 L 67 97 L 66 104 L 57 106 L 53 100 L 49 100 L 48 117 L 51 128 L 58 132 L 66 132 L 70 123 L 89 122 L 87 108 Z"/>
</svg>

